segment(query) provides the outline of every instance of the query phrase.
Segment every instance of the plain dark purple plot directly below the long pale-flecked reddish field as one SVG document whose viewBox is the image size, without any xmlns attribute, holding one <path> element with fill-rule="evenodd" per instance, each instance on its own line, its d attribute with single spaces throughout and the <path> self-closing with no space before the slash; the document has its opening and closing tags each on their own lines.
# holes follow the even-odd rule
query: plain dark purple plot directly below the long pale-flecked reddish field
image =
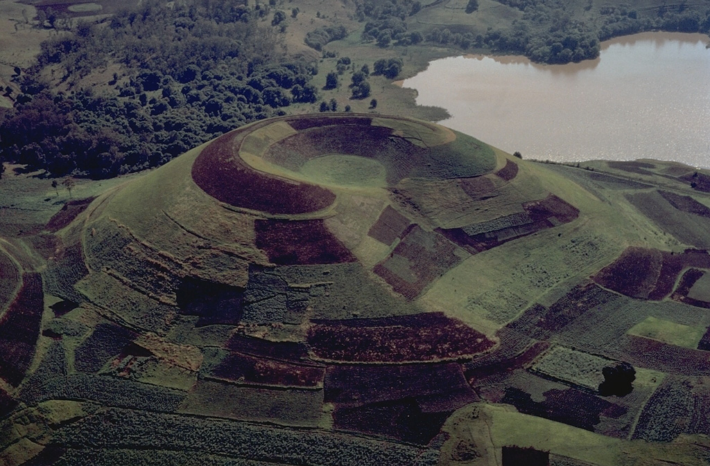
<svg viewBox="0 0 710 466">
<path fill-rule="evenodd" d="M 413 398 L 457 409 L 477 399 L 455 362 L 405 365 L 337 365 L 325 372 L 325 399 L 336 404 L 370 404 Z"/>
</svg>

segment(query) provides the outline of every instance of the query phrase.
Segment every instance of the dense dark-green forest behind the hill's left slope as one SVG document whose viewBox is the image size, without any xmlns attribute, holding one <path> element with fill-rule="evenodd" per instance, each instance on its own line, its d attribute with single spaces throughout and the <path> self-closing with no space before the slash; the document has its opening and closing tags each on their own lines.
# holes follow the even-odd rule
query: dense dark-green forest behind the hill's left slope
<svg viewBox="0 0 710 466">
<path fill-rule="evenodd" d="M 16 77 L 22 93 L 0 123 L 5 159 L 57 176 L 112 177 L 315 102 L 317 65 L 285 54 L 283 11 L 274 10 L 246 0 L 149 0 L 108 21 L 77 21 Z M 67 94 L 48 77 L 80 82 L 109 64 L 122 70 L 109 93 L 79 86 Z"/>
</svg>

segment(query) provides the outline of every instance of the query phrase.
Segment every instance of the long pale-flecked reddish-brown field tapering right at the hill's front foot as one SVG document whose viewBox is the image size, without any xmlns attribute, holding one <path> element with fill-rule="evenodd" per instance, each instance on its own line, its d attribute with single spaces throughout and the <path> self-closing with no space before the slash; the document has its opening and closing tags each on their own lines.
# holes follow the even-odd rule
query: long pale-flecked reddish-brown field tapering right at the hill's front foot
<svg viewBox="0 0 710 466">
<path fill-rule="evenodd" d="M 454 359 L 471 357 L 493 347 L 483 333 L 439 312 L 315 321 L 307 341 L 315 357 L 347 362 Z"/>
</svg>

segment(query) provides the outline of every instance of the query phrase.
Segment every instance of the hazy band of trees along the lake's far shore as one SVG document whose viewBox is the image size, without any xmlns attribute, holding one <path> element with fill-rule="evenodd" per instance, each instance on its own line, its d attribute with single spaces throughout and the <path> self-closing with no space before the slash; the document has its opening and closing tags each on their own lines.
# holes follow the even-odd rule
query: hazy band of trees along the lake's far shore
<svg viewBox="0 0 710 466">
<path fill-rule="evenodd" d="M 584 7 L 588 21 L 575 19 L 575 2 L 565 0 L 496 0 L 521 11 L 522 17 L 511 25 L 490 26 L 486 31 L 434 27 L 424 35 L 410 31 L 409 18 L 422 9 L 418 0 L 360 1 L 359 21 L 366 22 L 362 39 L 379 47 L 425 43 L 446 45 L 462 50 L 486 50 L 497 53 L 525 55 L 533 62 L 563 64 L 599 56 L 599 42 L 618 35 L 647 30 L 667 30 L 684 33 L 710 32 L 710 9 L 687 1 L 663 4 L 648 11 L 638 11 L 627 4 L 602 6 L 598 11 L 589 1 Z M 469 0 L 461 14 L 479 9 L 477 0 Z"/>
</svg>

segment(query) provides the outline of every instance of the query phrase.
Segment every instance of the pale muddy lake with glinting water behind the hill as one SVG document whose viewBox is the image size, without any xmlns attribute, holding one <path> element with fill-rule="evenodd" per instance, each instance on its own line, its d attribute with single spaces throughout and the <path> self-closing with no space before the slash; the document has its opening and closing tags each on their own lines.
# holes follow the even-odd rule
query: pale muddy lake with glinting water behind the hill
<svg viewBox="0 0 710 466">
<path fill-rule="evenodd" d="M 440 121 L 523 158 L 655 158 L 710 167 L 710 38 L 641 33 L 601 44 L 598 59 L 537 65 L 525 57 L 435 60 L 405 79 Z"/>
</svg>

